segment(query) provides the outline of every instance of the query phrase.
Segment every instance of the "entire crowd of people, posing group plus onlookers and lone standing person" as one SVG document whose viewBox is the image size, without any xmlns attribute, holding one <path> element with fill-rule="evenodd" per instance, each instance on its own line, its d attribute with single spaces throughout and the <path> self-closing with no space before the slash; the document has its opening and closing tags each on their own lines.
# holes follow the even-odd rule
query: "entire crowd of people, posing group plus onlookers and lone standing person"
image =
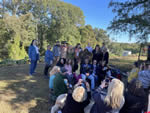
<svg viewBox="0 0 150 113">
<path fill-rule="evenodd" d="M 37 41 L 29 47 L 30 75 L 35 73 L 39 50 Z M 142 113 L 147 111 L 150 88 L 150 64 L 139 66 L 135 62 L 128 74 L 127 87 L 112 76 L 109 52 L 103 43 L 93 49 L 88 43 L 81 48 L 59 41 L 45 52 L 44 77 L 49 78 L 49 88 L 55 105 L 51 113 Z M 51 71 L 49 73 L 49 68 Z M 50 74 L 50 75 L 49 75 Z"/>
</svg>

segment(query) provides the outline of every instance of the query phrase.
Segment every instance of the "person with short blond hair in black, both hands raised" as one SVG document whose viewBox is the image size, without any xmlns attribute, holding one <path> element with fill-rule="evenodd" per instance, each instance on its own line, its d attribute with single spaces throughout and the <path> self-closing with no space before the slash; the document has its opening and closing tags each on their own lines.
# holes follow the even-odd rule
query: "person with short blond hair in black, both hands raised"
<svg viewBox="0 0 150 113">
<path fill-rule="evenodd" d="M 91 93 L 88 82 L 85 82 L 86 89 L 81 86 L 82 83 L 80 79 L 73 93 L 68 93 L 62 113 L 84 113 L 84 108 L 90 103 Z"/>
</svg>

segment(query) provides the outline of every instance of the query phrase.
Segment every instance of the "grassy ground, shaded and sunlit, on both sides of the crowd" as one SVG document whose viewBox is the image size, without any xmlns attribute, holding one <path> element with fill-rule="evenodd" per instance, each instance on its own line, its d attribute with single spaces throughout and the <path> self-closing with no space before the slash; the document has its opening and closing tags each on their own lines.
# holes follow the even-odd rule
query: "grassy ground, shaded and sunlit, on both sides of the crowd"
<svg viewBox="0 0 150 113">
<path fill-rule="evenodd" d="M 129 71 L 137 57 L 113 57 L 110 62 Z M 0 113 L 49 113 L 48 79 L 43 77 L 44 64 L 28 76 L 29 64 L 0 67 Z"/>
</svg>

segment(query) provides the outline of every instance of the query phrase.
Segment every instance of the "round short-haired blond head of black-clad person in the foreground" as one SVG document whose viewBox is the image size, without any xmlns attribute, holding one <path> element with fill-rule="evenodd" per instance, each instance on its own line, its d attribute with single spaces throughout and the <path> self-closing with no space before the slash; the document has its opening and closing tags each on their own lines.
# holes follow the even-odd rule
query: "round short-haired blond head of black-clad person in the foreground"
<svg viewBox="0 0 150 113">
<path fill-rule="evenodd" d="M 82 86 L 79 86 L 73 90 L 72 98 L 76 102 L 83 102 L 84 100 L 86 100 L 86 97 L 87 97 L 86 90 Z"/>
</svg>

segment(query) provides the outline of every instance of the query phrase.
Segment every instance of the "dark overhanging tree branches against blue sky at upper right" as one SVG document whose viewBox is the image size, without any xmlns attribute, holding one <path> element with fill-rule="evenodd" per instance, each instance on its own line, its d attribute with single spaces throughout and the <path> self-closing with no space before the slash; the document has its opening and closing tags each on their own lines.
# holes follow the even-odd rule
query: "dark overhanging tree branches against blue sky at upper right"
<svg viewBox="0 0 150 113">
<path fill-rule="evenodd" d="M 150 1 L 128 0 L 109 4 L 116 13 L 108 29 L 115 32 L 128 32 L 139 42 L 147 42 L 150 34 Z"/>
</svg>

